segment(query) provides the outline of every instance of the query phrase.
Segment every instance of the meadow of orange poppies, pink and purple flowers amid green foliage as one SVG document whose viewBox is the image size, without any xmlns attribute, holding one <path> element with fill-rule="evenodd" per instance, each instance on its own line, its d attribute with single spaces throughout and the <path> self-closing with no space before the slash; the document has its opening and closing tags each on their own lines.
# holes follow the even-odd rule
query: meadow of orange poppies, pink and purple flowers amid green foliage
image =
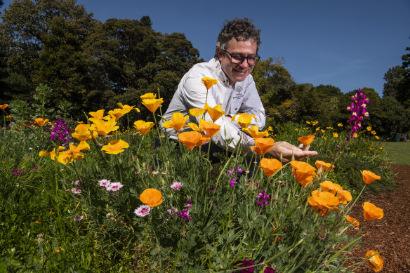
<svg viewBox="0 0 410 273">
<path fill-rule="evenodd" d="M 204 79 L 206 88 L 214 81 Z M 86 122 L 43 116 L 14 124 L 4 118 L 2 268 L 352 272 L 362 263 L 374 271 L 383 268 L 377 246 L 366 257 L 351 254 L 360 245 L 361 227 L 383 218 L 378 204 L 359 197 L 378 190 L 374 185 L 389 187 L 392 178 L 382 164 L 383 147 L 374 144 L 376 133 L 361 128 L 369 115 L 364 93 L 352 98 L 355 116 L 339 128 L 324 130 L 307 121 L 275 130 L 268 124 L 267 131 L 259 131 L 251 114 L 238 114 L 232 122 L 255 139 L 255 153 L 246 161 L 241 152 L 226 151 L 216 154 L 217 164 L 209 160 L 208 147 L 220 129 L 213 121 L 225 114 L 220 105 L 191 109 L 198 124 L 180 113 L 164 121 L 176 132 L 190 128 L 174 142 L 158 126 L 163 100 L 157 96 L 143 95 L 140 109 L 119 103 L 107 114 L 90 112 Z M 4 116 L 7 106 L 0 105 Z M 152 112 L 152 121 L 121 128 L 119 120 L 131 111 Z M 279 140 L 310 145 L 319 156 L 286 164 L 265 157 Z M 349 215 L 357 202 L 364 222 Z M 350 230 L 356 235 L 348 235 Z"/>
</svg>

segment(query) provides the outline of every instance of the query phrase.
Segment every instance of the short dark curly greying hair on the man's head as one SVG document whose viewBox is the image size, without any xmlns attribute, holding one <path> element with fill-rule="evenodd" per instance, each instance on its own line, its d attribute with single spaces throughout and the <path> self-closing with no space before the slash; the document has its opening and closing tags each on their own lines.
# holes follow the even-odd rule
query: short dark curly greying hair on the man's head
<svg viewBox="0 0 410 273">
<path fill-rule="evenodd" d="M 216 47 L 226 49 L 227 43 L 232 40 L 232 38 L 237 39 L 237 41 L 247 41 L 249 39 L 256 41 L 256 53 L 258 53 L 260 45 L 260 29 L 257 29 L 253 25 L 251 19 L 235 18 L 227 20 L 218 35 Z M 215 51 L 215 58 L 218 58 L 218 51 Z"/>
</svg>

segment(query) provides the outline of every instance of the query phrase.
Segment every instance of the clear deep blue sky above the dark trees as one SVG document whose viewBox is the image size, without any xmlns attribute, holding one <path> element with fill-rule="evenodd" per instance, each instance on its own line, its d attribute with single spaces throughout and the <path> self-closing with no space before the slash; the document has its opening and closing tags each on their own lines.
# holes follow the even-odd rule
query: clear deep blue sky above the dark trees
<svg viewBox="0 0 410 273">
<path fill-rule="evenodd" d="M 11 1 L 4 1 L 7 8 Z M 283 57 L 298 84 L 331 84 L 344 93 L 371 87 L 402 65 L 410 47 L 409 0 L 182 1 L 77 0 L 94 18 L 140 20 L 157 32 L 182 32 L 209 60 L 226 19 L 247 17 L 261 29 L 259 55 Z"/>
</svg>

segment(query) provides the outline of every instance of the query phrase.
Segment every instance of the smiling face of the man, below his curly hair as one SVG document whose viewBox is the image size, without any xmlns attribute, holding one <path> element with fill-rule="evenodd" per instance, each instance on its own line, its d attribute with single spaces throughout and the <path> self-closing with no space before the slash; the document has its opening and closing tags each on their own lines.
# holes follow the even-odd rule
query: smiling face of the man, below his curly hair
<svg viewBox="0 0 410 273">
<path fill-rule="evenodd" d="M 237 41 L 237 39 L 232 38 L 232 40 L 227 43 L 227 48 L 225 50 L 231 54 L 255 56 L 257 48 L 258 46 L 253 39 Z M 244 60 L 242 64 L 234 64 L 231 62 L 230 55 L 222 51 L 220 48 L 218 48 L 218 58 L 220 61 L 220 67 L 229 78 L 230 85 L 237 81 L 244 81 L 246 76 L 252 72 L 253 66 L 250 67 L 247 60 Z"/>
</svg>

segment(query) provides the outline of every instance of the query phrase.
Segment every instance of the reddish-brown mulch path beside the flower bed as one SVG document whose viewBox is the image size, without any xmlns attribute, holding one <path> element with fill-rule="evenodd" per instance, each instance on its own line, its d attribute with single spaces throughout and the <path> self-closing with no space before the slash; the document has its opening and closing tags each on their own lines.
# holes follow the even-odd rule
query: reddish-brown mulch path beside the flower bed
<svg viewBox="0 0 410 273">
<path fill-rule="evenodd" d="M 382 208 L 384 217 L 366 223 L 361 234 L 365 234 L 362 246 L 354 248 L 353 257 L 364 257 L 373 249 L 381 253 L 384 267 L 381 272 L 410 272 L 410 166 L 392 165 L 396 188 L 383 194 L 366 195 L 357 201 L 350 216 L 362 225 L 362 204 L 371 202 Z M 356 272 L 373 272 L 369 265 L 362 265 Z"/>
</svg>

